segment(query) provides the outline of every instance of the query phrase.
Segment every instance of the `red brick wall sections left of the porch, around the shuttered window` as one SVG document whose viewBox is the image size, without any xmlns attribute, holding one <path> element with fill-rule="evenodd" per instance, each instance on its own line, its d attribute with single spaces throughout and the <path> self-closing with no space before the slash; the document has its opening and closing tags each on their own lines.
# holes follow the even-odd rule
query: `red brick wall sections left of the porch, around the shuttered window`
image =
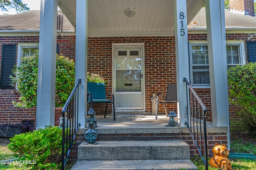
<svg viewBox="0 0 256 170">
<path fill-rule="evenodd" d="M 0 63 L 2 44 L 18 43 L 39 43 L 39 36 L 0 36 Z M 57 40 L 57 43 L 59 43 L 60 53 L 70 59 L 75 58 L 75 36 L 62 36 L 62 40 Z M 18 51 L 18 45 L 16 51 Z M 12 101 L 18 101 L 19 97 L 14 89 L 0 89 L 0 125 L 20 124 L 22 121 L 28 120 L 36 122 L 36 107 L 21 109 L 13 106 Z"/>
</svg>

